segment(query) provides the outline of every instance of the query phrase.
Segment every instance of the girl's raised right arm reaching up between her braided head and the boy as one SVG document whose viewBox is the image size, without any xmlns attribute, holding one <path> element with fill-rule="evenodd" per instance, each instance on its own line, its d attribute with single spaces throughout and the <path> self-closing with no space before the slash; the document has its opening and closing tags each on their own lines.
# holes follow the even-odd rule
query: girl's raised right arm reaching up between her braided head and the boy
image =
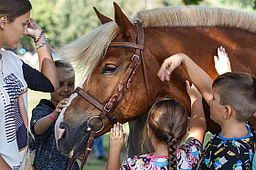
<svg viewBox="0 0 256 170">
<path fill-rule="evenodd" d="M 186 81 L 187 94 L 191 100 L 191 116 L 188 137 L 196 138 L 202 145 L 207 132 L 207 122 L 203 109 L 202 95 L 197 91 L 195 85 L 189 85 Z"/>
</svg>

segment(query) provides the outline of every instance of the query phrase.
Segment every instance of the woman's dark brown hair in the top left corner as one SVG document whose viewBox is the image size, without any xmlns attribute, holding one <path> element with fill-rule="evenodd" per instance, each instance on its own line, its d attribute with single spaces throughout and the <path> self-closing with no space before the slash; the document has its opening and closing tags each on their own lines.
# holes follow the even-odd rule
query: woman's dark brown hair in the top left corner
<svg viewBox="0 0 256 170">
<path fill-rule="evenodd" d="M 14 22 L 17 16 L 25 15 L 32 9 L 29 0 L 0 0 L 0 17 L 7 16 Z"/>
</svg>

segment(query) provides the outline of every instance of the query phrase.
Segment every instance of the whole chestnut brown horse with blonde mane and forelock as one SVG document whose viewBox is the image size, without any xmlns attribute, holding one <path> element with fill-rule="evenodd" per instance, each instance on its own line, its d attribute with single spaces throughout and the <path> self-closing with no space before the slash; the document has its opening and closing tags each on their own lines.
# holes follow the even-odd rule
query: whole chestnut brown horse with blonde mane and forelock
<svg viewBox="0 0 256 170">
<path fill-rule="evenodd" d="M 223 45 L 229 52 L 232 71 L 256 74 L 255 15 L 220 8 L 188 6 L 141 11 L 130 20 L 115 3 L 114 9 L 114 21 L 95 10 L 102 25 L 64 48 L 66 56 L 71 56 L 84 73 L 79 85 L 80 92 L 86 91 L 98 101 L 91 105 L 78 93 L 70 96 L 69 104 L 59 115 L 56 124 L 58 148 L 64 155 L 73 151 L 73 157 L 76 157 L 84 151 L 90 134 L 88 126 L 99 131 L 96 137 L 110 130 L 110 120 L 101 115 L 101 110 L 104 105 L 109 106 L 106 104 L 109 104 L 110 98 L 114 98 L 112 94 L 116 88 L 123 87 L 120 82 L 126 76 L 131 59 L 138 50 L 137 54 L 143 50 L 144 63 L 136 67 L 138 70 L 133 76 L 132 85 L 125 83 L 129 89 L 126 89 L 123 99 L 118 102 L 120 104 L 114 104 L 116 108 L 112 115 L 108 115 L 120 123 L 144 115 L 151 102 L 166 95 L 185 105 L 187 112 L 190 112 L 185 85 L 189 77 L 184 69 L 178 67 L 171 75 L 170 82 L 163 83 L 157 78 L 158 69 L 170 55 L 187 54 L 215 79 L 218 74 L 213 56 L 217 55 L 217 48 Z M 144 44 L 140 42 L 136 45 L 139 31 L 133 23 L 143 26 Z M 127 47 L 125 43 L 123 47 L 118 43 L 115 46 L 111 44 L 112 41 L 130 42 L 128 44 L 132 46 Z M 95 105 L 100 105 L 100 108 Z M 205 111 L 208 130 L 216 133 L 219 126 L 209 118 L 208 105 L 205 105 Z"/>
</svg>

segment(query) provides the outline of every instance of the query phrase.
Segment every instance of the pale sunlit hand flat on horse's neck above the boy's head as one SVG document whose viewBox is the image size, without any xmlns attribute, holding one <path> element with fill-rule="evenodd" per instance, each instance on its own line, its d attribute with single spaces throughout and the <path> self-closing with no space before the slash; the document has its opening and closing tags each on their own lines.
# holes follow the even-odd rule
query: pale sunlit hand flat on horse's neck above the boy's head
<svg viewBox="0 0 256 170">
<path fill-rule="evenodd" d="M 218 56 L 214 56 L 215 68 L 219 75 L 231 72 L 231 66 L 229 56 L 225 51 L 225 48 L 220 46 L 218 48 Z"/>
</svg>

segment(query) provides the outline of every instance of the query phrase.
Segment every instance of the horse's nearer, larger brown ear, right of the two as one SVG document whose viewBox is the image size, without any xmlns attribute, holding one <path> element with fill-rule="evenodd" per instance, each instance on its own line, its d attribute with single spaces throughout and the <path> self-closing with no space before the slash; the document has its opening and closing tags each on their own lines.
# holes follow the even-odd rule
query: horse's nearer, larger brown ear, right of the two
<svg viewBox="0 0 256 170">
<path fill-rule="evenodd" d="M 133 23 L 130 22 L 127 16 L 123 14 L 123 11 L 121 10 L 120 6 L 116 3 L 113 3 L 113 5 L 114 20 L 116 24 L 119 26 L 121 33 L 126 37 L 136 35 L 137 32 L 135 26 L 133 25 Z"/>
</svg>

